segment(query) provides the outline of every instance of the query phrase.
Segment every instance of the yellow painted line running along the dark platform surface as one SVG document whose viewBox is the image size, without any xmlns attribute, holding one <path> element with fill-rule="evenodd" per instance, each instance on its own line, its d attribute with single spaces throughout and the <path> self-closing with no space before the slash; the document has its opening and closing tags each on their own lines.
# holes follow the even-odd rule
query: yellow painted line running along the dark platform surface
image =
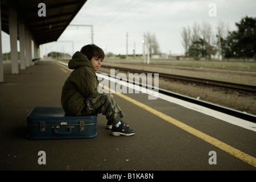
<svg viewBox="0 0 256 182">
<path fill-rule="evenodd" d="M 64 65 L 61 65 L 59 63 L 56 63 L 56 64 L 60 65 L 61 67 L 64 67 L 65 69 L 67 69 L 69 71 L 72 71 L 71 69 L 68 69 Z M 108 89 L 108 88 L 105 88 L 105 89 Z M 216 138 L 210 137 L 210 135 L 207 135 L 199 130 L 196 130 L 193 127 L 188 126 L 183 122 L 177 121 L 176 119 L 174 119 L 166 114 L 163 114 L 160 111 L 153 109 L 152 107 L 144 105 L 141 102 L 134 100 L 133 98 L 127 97 L 121 93 L 117 93 L 110 88 L 109 88 L 109 91 L 112 93 L 115 93 L 117 96 L 141 107 L 142 109 L 156 115 L 157 117 L 164 119 L 165 121 L 171 123 L 172 125 L 175 125 L 175 126 L 179 127 L 180 129 L 187 131 L 188 133 L 195 135 L 196 137 L 198 137 L 200 139 L 203 139 L 205 142 L 208 142 L 208 143 L 212 144 L 213 146 L 216 146 L 216 147 L 220 148 L 221 150 L 228 152 L 229 154 L 235 156 L 238 159 L 243 160 L 244 162 L 250 164 L 251 166 L 256 167 L 256 158 L 254 158 L 254 156 L 246 154 L 245 152 L 238 150 L 237 148 L 234 148 L 234 147 L 230 146 L 229 144 L 221 142 L 220 140 L 218 140 Z"/>
</svg>

